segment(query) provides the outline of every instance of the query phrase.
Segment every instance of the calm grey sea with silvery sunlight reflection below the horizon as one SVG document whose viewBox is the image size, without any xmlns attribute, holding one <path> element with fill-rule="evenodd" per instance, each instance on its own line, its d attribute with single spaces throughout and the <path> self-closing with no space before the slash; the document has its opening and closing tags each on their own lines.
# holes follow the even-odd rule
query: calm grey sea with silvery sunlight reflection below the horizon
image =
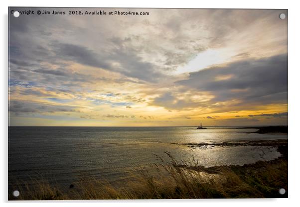
<svg viewBox="0 0 300 207">
<path fill-rule="evenodd" d="M 172 143 L 233 140 L 287 139 L 284 134 L 257 134 L 257 129 L 210 127 L 9 127 L 8 178 L 33 182 L 43 177 L 70 185 L 80 176 L 118 183 L 138 169 L 153 169 L 167 160 L 165 151 L 177 160 L 198 160 L 203 166 L 243 165 L 271 160 L 280 154 L 272 147 L 214 147 L 193 149 Z"/>
</svg>

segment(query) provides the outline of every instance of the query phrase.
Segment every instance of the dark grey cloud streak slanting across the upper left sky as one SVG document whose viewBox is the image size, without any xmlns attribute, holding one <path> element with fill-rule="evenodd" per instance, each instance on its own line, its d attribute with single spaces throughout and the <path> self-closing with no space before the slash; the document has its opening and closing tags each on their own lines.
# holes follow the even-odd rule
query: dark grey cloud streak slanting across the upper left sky
<svg viewBox="0 0 300 207">
<path fill-rule="evenodd" d="M 53 52 L 57 58 L 71 60 L 83 65 L 93 66 L 119 72 L 128 77 L 137 78 L 147 82 L 156 82 L 166 77 L 162 73 L 155 71 L 154 65 L 145 62 L 137 55 L 137 51 L 116 45 L 111 51 L 95 52 L 85 46 L 53 42 Z M 118 63 L 114 65 L 113 63 Z"/>
</svg>

